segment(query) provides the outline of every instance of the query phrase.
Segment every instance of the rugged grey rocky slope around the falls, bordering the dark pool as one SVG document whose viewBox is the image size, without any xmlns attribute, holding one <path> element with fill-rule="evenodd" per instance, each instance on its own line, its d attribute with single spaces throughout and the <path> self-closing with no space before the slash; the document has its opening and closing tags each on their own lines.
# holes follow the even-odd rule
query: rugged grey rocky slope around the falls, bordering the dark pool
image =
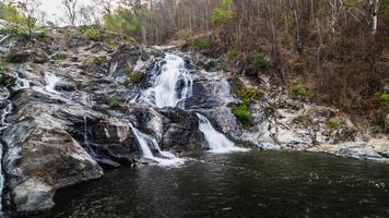
<svg viewBox="0 0 389 218">
<path fill-rule="evenodd" d="M 233 114 L 241 99 L 229 72 L 205 71 L 209 60 L 197 53 L 99 34 L 96 41 L 81 28 L 57 28 L 33 41 L 8 37 L 0 44 L 9 211 L 49 209 L 58 189 L 98 179 L 103 169 L 172 158 L 162 150 L 185 156 L 209 149 L 197 113 L 251 148 L 389 160 L 388 135 L 369 138 L 345 114 L 292 99 L 266 76 L 259 85 L 243 80 L 263 94 L 250 104 L 251 125 L 243 126 Z M 162 78 L 169 70 L 177 76 Z M 155 159 L 145 158 L 142 142 Z"/>
</svg>

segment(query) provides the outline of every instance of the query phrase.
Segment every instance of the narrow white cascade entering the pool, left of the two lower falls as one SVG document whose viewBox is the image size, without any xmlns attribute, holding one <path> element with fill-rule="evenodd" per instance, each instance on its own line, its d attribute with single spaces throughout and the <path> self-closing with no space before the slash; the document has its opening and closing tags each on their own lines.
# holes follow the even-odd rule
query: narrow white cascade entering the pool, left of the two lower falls
<svg viewBox="0 0 389 218">
<path fill-rule="evenodd" d="M 129 125 L 137 138 L 142 158 L 155 160 L 161 166 L 170 166 L 184 162 L 184 159 L 177 158 L 174 154 L 161 150 L 160 145 L 154 137 L 142 133 L 131 123 Z M 155 157 L 153 155 L 151 147 L 156 150 L 160 157 Z"/>
</svg>

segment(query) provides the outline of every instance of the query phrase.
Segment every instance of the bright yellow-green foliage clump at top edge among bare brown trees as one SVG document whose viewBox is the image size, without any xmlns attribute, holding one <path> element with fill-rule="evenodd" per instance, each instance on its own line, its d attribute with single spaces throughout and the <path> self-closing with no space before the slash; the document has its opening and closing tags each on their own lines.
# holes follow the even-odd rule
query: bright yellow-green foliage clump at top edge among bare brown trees
<svg viewBox="0 0 389 218">
<path fill-rule="evenodd" d="M 211 14 L 211 23 L 214 25 L 231 23 L 234 19 L 233 4 L 232 0 L 222 0 L 221 4 Z"/>
</svg>

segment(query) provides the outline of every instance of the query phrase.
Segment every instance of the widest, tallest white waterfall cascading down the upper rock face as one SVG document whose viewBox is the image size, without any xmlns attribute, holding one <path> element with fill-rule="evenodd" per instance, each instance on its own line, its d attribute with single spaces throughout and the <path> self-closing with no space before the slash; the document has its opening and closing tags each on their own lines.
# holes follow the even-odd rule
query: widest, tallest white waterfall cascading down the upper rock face
<svg viewBox="0 0 389 218">
<path fill-rule="evenodd" d="M 192 80 L 188 69 L 185 68 L 185 60 L 167 53 L 163 61 L 161 69 L 154 68 L 154 84 L 142 94 L 140 100 L 158 108 L 184 109 L 185 100 L 192 95 Z"/>
</svg>

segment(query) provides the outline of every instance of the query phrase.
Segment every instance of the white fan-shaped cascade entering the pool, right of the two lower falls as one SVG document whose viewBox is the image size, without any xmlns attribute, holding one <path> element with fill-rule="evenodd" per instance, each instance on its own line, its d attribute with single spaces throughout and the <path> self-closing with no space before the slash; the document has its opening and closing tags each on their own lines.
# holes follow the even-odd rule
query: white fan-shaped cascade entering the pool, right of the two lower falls
<svg viewBox="0 0 389 218">
<path fill-rule="evenodd" d="M 197 113 L 199 118 L 199 130 L 204 134 L 208 142 L 210 152 L 212 153 L 229 153 L 229 152 L 245 152 L 247 149 L 235 147 L 225 135 L 217 132 L 211 124 L 211 122 L 200 113 Z"/>
</svg>

